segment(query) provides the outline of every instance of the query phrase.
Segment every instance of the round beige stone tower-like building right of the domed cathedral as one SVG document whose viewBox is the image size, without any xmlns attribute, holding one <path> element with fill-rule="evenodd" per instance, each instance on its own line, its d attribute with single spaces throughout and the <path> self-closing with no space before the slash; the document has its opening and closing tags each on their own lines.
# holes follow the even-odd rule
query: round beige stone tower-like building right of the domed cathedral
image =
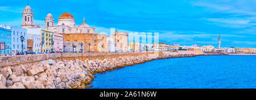
<svg viewBox="0 0 256 100">
<path fill-rule="evenodd" d="M 116 44 L 115 48 L 118 52 L 128 51 L 128 34 L 126 32 L 117 32 L 117 30 L 115 30 L 113 39 Z"/>
</svg>

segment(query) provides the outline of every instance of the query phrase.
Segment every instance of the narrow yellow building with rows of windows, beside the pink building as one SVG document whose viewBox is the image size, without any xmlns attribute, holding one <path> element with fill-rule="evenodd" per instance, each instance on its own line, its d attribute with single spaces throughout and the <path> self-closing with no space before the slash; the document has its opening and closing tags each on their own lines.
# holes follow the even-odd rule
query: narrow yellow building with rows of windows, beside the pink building
<svg viewBox="0 0 256 100">
<path fill-rule="evenodd" d="M 42 52 L 51 52 L 53 51 L 53 32 L 43 29 L 41 30 L 41 40 L 42 40 Z"/>
</svg>

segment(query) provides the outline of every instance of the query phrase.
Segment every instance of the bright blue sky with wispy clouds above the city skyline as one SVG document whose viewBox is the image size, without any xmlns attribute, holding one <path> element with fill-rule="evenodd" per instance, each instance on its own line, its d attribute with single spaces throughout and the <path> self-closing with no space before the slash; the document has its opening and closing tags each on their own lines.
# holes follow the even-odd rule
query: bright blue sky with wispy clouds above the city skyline
<svg viewBox="0 0 256 100">
<path fill-rule="evenodd" d="M 180 45 L 256 48 L 256 1 L 1 1 L 0 24 L 22 24 L 22 10 L 28 4 L 34 10 L 34 20 L 44 26 L 51 12 L 57 19 L 71 13 L 76 24 L 86 23 L 96 32 L 159 32 L 159 42 Z"/>
</svg>

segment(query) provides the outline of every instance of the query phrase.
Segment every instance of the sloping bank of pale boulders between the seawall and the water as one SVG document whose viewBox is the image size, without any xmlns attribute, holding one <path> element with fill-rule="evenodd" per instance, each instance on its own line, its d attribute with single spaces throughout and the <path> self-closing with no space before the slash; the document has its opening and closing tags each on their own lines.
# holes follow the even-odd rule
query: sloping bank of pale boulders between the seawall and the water
<svg viewBox="0 0 256 100">
<path fill-rule="evenodd" d="M 160 55 L 120 56 L 104 60 L 48 60 L 6 66 L 1 70 L 0 89 L 85 89 L 94 79 L 93 74 L 104 73 L 128 65 L 142 64 L 155 59 L 171 57 L 192 57 L 195 55 Z"/>
</svg>

